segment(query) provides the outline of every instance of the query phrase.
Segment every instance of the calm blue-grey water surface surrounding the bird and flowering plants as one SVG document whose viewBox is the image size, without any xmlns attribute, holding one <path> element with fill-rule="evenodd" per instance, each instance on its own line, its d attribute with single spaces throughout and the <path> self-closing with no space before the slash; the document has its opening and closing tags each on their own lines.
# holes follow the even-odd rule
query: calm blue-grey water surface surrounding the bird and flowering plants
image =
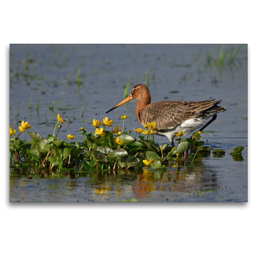
<svg viewBox="0 0 256 256">
<path fill-rule="evenodd" d="M 226 151 L 221 157 L 202 156 L 200 166 L 172 167 L 166 171 L 142 168 L 106 174 L 70 173 L 58 178 L 36 170 L 10 168 L 12 202 L 246 202 L 247 201 L 247 45 L 232 65 L 213 63 L 220 51 L 230 53 L 239 45 L 143 44 L 143 45 L 10 45 L 10 124 L 19 130 L 22 120 L 43 137 L 53 133 L 57 114 L 66 124 L 58 135 L 66 138 L 84 127 L 92 132 L 94 118 L 108 116 L 114 126 L 140 128 L 136 100 L 105 112 L 123 100 L 124 86 L 145 83 L 152 102 L 161 100 L 222 100 L 220 113 L 202 140 Z M 211 60 L 212 58 L 212 60 Z M 79 84 L 76 76 L 79 67 Z M 26 76 L 24 75 L 26 74 Z M 32 94 L 31 109 L 29 109 Z M 40 98 L 39 98 L 40 97 Z M 36 110 L 39 98 L 38 110 Z M 49 108 L 53 105 L 53 109 Z M 34 130 L 33 130 L 34 129 Z M 23 136 L 23 137 L 22 137 Z M 25 134 L 20 136 L 25 139 Z M 167 138 L 157 141 L 169 143 Z M 26 140 L 30 140 L 28 135 Z M 76 141 L 83 141 L 77 133 Z M 228 155 L 244 146 L 240 157 Z"/>
</svg>

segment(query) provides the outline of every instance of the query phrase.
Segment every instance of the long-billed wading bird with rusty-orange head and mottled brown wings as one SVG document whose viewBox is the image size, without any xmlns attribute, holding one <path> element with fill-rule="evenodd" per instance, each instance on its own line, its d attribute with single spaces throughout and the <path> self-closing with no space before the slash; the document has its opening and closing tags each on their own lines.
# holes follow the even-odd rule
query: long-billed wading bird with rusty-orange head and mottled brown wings
<svg viewBox="0 0 256 256">
<path fill-rule="evenodd" d="M 227 110 L 225 107 L 218 106 L 221 100 L 196 102 L 164 100 L 151 103 L 148 87 L 144 84 L 137 84 L 132 88 L 132 93 L 125 100 L 109 109 L 106 113 L 133 99 L 138 100 L 136 117 L 140 124 L 144 126 L 147 122 L 156 122 L 156 134 L 166 136 L 171 141 L 172 147 L 174 147 L 173 138 L 176 136 L 175 132 L 183 131 L 184 135 L 195 130 L 202 132 L 205 127 L 216 119 L 219 112 Z M 212 119 L 207 123 L 207 120 L 211 117 Z"/>
</svg>

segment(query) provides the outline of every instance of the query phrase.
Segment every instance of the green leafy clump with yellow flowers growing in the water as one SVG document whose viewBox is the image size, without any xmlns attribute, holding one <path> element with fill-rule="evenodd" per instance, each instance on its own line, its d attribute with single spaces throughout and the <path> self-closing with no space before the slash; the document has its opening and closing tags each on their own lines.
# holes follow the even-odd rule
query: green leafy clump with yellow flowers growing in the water
<svg viewBox="0 0 256 256">
<path fill-rule="evenodd" d="M 125 121 L 127 116 L 121 118 Z M 154 140 L 156 123 L 147 123 L 144 129 L 133 129 L 135 137 L 131 136 L 131 131 L 124 132 L 115 126 L 115 129 L 108 131 L 108 127 L 113 126 L 113 120 L 105 117 L 103 121 L 92 121 L 94 131 L 88 133 L 81 127 L 77 132 L 84 136 L 83 142 L 71 143 L 75 139 L 74 134 L 67 134 L 63 140 L 58 138 L 59 131 L 64 120 L 58 114 L 53 135 L 49 134 L 43 138 L 36 132 L 28 132 L 30 141 L 20 140 L 21 133 L 27 132 L 31 125 L 28 122 L 21 122 L 20 133 L 16 136 L 16 130 L 10 125 L 10 165 L 20 168 L 21 166 L 32 166 L 42 168 L 51 174 L 52 172 L 72 171 L 111 171 L 118 169 L 140 168 L 142 166 L 152 169 L 166 170 L 167 166 L 176 168 L 192 167 L 198 152 L 209 154 L 211 148 L 204 147 L 201 139 L 201 132 L 195 132 L 191 138 L 181 138 L 183 132 L 176 133 L 177 146 L 170 147 L 169 144 L 159 145 Z M 100 126 L 103 127 L 100 127 Z M 57 129 L 58 127 L 58 129 Z M 56 132 L 57 130 L 57 132 Z M 56 135 L 55 135 L 56 133 Z M 129 134 L 128 134 L 129 133 Z M 137 136 L 139 133 L 139 136 Z M 68 139 L 68 141 L 66 141 Z M 241 154 L 243 147 L 235 148 L 231 154 Z M 213 150 L 214 155 L 225 154 L 223 150 Z M 14 162 L 13 162 L 14 160 Z"/>
</svg>

